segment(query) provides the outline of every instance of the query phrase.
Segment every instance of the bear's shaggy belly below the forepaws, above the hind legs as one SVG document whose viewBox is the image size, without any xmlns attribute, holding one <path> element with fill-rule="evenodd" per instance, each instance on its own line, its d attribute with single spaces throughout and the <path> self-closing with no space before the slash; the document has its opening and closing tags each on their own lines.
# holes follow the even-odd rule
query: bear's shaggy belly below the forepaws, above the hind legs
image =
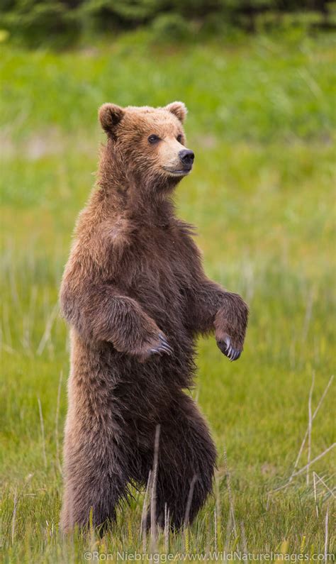
<svg viewBox="0 0 336 564">
<path fill-rule="evenodd" d="M 164 417 L 181 389 L 190 388 L 196 366 L 185 333 L 168 336 L 173 355 L 152 355 L 144 363 L 118 352 L 112 343 L 87 343 L 72 329 L 70 403 L 90 411 L 104 405 L 122 419 Z"/>
</svg>

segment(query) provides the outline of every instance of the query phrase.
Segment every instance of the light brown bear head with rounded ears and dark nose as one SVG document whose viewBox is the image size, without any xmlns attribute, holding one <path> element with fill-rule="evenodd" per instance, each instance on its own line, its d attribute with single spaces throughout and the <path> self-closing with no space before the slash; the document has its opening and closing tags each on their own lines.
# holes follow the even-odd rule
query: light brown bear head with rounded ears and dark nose
<svg viewBox="0 0 336 564">
<path fill-rule="evenodd" d="M 179 101 L 162 108 L 103 104 L 99 121 L 108 137 L 108 157 L 123 179 L 169 189 L 188 175 L 194 153 L 185 145 L 185 118 L 186 106 Z"/>
</svg>

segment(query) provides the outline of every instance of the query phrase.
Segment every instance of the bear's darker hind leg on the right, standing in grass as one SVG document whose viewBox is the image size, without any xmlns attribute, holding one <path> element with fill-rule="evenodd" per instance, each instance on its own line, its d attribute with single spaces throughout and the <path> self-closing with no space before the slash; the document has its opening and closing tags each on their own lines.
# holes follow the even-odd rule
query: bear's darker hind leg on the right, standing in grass
<svg viewBox="0 0 336 564">
<path fill-rule="evenodd" d="M 171 419 L 162 423 L 156 484 L 156 519 L 164 526 L 169 511 L 172 529 L 191 523 L 212 490 L 216 451 L 194 401 L 181 392 Z M 147 515 L 150 527 L 150 512 Z"/>
</svg>

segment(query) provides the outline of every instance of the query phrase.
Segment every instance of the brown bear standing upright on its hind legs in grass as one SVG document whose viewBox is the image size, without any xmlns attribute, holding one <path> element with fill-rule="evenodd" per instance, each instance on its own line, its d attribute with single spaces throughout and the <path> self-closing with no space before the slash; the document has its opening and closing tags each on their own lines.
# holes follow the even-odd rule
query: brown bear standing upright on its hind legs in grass
<svg viewBox="0 0 336 564">
<path fill-rule="evenodd" d="M 187 505 L 192 521 L 211 492 L 215 446 L 184 389 L 198 333 L 214 331 L 237 360 L 248 312 L 208 280 L 191 226 L 174 214 L 172 192 L 194 161 L 185 117 L 181 102 L 99 110 L 107 145 L 60 292 L 71 326 L 63 531 L 90 512 L 95 525 L 116 519 L 129 486 L 147 484 L 157 426 L 157 524 L 166 510 L 178 529 Z"/>
</svg>

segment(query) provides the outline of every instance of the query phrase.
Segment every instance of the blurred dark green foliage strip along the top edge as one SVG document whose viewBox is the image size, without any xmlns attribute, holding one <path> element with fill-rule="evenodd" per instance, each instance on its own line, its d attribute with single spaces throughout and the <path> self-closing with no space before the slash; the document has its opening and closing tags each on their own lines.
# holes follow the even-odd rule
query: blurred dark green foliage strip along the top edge
<svg viewBox="0 0 336 564">
<path fill-rule="evenodd" d="M 327 0 L 2 0 L 2 26 L 18 43 L 64 48 L 146 28 L 153 40 L 202 40 L 279 26 L 335 29 Z"/>
</svg>

